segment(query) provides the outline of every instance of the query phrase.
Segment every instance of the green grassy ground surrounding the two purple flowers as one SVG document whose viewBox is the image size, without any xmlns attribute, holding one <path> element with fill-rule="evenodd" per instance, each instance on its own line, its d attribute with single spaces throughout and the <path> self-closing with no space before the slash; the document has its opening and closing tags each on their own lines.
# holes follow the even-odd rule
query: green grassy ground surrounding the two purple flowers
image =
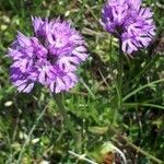
<svg viewBox="0 0 164 164">
<path fill-rule="evenodd" d="M 19 163 L 21 152 L 22 164 L 85 163 L 69 150 L 103 163 L 106 157 L 99 152 L 108 141 L 125 153 L 129 164 L 164 161 L 164 4 L 159 3 L 163 1 L 143 1 L 155 13 L 156 38 L 133 58 L 124 57 L 122 99 L 133 94 L 121 99 L 119 108 L 118 43 L 99 24 L 103 0 L 0 0 L 0 164 Z M 33 34 L 31 15 L 71 20 L 87 43 L 90 58 L 78 70 L 80 82 L 65 93 L 74 137 L 65 129 L 46 89 L 20 94 L 10 82 L 8 47 L 16 31 Z"/>
</svg>

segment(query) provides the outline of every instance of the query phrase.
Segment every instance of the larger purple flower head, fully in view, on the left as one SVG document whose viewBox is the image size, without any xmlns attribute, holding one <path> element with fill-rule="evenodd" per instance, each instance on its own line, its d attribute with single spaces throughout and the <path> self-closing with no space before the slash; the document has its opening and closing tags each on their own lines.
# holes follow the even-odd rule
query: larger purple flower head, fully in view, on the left
<svg viewBox="0 0 164 164">
<path fill-rule="evenodd" d="M 36 83 L 51 92 L 68 91 L 78 82 L 77 67 L 87 58 L 85 42 L 70 23 L 32 17 L 34 37 L 17 33 L 9 48 L 11 81 L 19 92 L 30 93 Z"/>
</svg>

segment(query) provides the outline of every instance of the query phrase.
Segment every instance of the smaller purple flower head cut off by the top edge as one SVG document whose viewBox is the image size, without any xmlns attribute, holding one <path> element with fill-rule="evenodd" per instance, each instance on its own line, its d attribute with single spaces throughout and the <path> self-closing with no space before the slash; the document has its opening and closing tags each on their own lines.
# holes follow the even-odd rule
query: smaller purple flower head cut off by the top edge
<svg viewBox="0 0 164 164">
<path fill-rule="evenodd" d="M 102 25 L 118 37 L 121 49 L 132 54 L 147 47 L 155 35 L 153 12 L 141 0 L 108 0 L 102 11 Z"/>
</svg>

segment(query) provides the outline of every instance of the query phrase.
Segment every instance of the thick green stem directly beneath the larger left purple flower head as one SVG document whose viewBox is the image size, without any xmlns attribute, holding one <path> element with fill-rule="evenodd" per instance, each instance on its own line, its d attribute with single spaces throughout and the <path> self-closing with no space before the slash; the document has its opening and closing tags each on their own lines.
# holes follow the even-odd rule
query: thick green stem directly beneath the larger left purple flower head
<svg viewBox="0 0 164 164">
<path fill-rule="evenodd" d="M 55 94 L 54 98 L 55 98 L 55 101 L 57 103 L 57 106 L 59 108 L 59 113 L 63 117 L 63 126 L 65 126 L 65 128 L 68 131 L 70 131 L 72 136 L 74 136 L 75 134 L 75 130 L 74 130 L 73 124 L 70 121 L 70 119 L 68 117 L 68 114 L 67 114 L 67 110 L 65 108 L 65 105 L 63 105 L 63 102 L 62 102 L 62 95 L 60 93 L 59 94 Z"/>
</svg>

